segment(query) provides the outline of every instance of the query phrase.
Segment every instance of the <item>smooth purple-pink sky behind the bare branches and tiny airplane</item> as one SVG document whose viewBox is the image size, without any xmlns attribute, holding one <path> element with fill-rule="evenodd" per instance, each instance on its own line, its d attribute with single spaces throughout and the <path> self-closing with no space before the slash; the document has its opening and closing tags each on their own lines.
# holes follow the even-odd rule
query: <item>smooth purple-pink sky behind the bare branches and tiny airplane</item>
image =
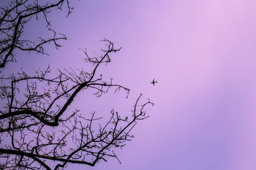
<svg viewBox="0 0 256 170">
<path fill-rule="evenodd" d="M 83 67 L 77 48 L 99 52 L 99 40 L 108 38 L 122 50 L 102 69 L 104 77 L 132 91 L 128 100 L 124 92 L 89 96 L 104 103 L 92 111 L 129 113 L 140 93 L 155 106 L 134 129 L 136 137 L 116 151 L 122 164 L 108 159 L 67 169 L 256 169 L 256 1 L 83 0 L 71 6 L 68 18 L 52 17 L 68 37 L 65 46 L 26 66 Z"/>
</svg>

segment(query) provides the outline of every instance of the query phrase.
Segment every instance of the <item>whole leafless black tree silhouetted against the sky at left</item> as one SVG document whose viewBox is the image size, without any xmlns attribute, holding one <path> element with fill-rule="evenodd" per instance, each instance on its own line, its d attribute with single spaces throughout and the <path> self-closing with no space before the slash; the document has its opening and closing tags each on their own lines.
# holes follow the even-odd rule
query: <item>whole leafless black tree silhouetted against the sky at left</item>
<svg viewBox="0 0 256 170">
<path fill-rule="evenodd" d="M 27 2 L 11 1 L 6 8 L 13 10 L 14 5 L 20 7 Z M 32 4 L 33 8 L 36 3 Z M 54 5 L 61 8 L 62 3 L 63 1 L 59 1 Z M 47 3 L 47 6 L 51 5 Z M 30 9 L 29 6 L 25 8 Z M 46 15 L 46 11 L 44 12 Z M 7 16 L 8 11 L 2 15 Z M 1 31 L 5 32 L 7 39 L 13 38 L 13 27 L 6 27 Z M 15 45 L 1 41 L 1 46 L 6 46 L 6 50 L 1 48 L 1 54 L 5 53 L 4 56 L 7 56 L 6 54 L 13 53 L 12 49 L 22 46 L 20 42 L 25 41 L 26 45 L 30 42 L 17 37 L 12 41 L 15 41 Z M 43 42 L 46 43 L 45 40 Z M 1 75 L 0 169 L 64 169 L 67 164 L 94 166 L 100 160 L 107 161 L 108 157 L 118 160 L 115 148 L 122 148 L 134 137 L 131 134 L 132 128 L 138 120 L 148 117 L 145 107 L 153 103 L 148 100 L 140 104 L 140 94 L 131 115 L 123 116 L 112 109 L 107 119 L 97 116 L 95 112 L 88 114 L 73 110 L 77 95 L 84 90 L 92 89 L 93 95 L 97 97 L 107 93 L 109 89 L 115 92 L 124 90 L 127 97 L 129 95 L 126 87 L 113 83 L 113 79 L 106 81 L 102 74 L 97 74 L 100 66 L 111 62 L 111 53 L 120 50 L 108 39 L 103 39 L 103 42 L 106 43 L 106 48 L 102 49 L 102 55 L 91 57 L 83 50 L 85 62 L 92 66 L 89 70 L 58 69 L 58 74 L 52 78 L 48 66 L 44 70 L 35 69 L 33 74 L 21 69 L 17 74 Z M 28 46 L 26 48 L 30 49 Z M 42 48 L 35 47 L 31 50 L 41 53 L 37 49 Z M 14 59 L 14 54 L 8 56 L 11 56 L 10 60 Z M 3 67 L 8 61 L 4 61 L 3 57 Z"/>
</svg>

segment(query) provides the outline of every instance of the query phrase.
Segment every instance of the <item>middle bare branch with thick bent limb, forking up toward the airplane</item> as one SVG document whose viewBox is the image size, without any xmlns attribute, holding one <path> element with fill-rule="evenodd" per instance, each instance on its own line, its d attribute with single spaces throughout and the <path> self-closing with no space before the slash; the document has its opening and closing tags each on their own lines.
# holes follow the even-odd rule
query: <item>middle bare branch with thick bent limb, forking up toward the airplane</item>
<svg viewBox="0 0 256 170">
<path fill-rule="evenodd" d="M 115 87 L 115 90 L 126 90 L 128 95 L 129 89 L 122 85 L 115 85 L 112 80 L 109 83 L 102 81 L 101 75 L 95 78 L 95 72 L 100 64 L 110 62 L 109 53 L 118 51 L 114 49 L 113 43 L 106 39 L 104 41 L 108 43 L 108 50 L 102 50 L 105 52 L 104 55 L 99 57 L 97 61 L 93 60 L 95 65 L 90 73 L 85 71 L 75 73 L 74 71 L 67 71 L 67 69 L 63 72 L 58 69 L 58 76 L 47 78 L 47 74 L 50 73 L 50 69 L 47 67 L 44 71 L 35 71 L 33 76 L 21 71 L 18 73 L 18 77 L 12 74 L 7 78 L 0 78 L 0 80 L 5 80 L 4 82 L 6 80 L 11 81 L 10 86 L 3 85 L 0 88 L 1 97 L 6 101 L 5 106 L 8 106 L 8 110 L 1 111 L 0 120 L 13 116 L 29 115 L 29 117 L 36 118 L 46 125 L 57 126 L 61 115 L 67 110 L 77 94 L 84 89 L 95 89 L 95 96 L 100 97 L 103 93 L 108 92 L 110 87 Z M 85 60 L 91 62 L 87 54 Z M 42 85 L 44 87 L 42 93 L 38 93 L 38 82 L 44 84 Z M 27 84 L 26 94 L 22 97 L 22 101 L 20 96 L 17 96 L 20 90 L 17 87 L 19 83 Z M 53 85 L 54 89 L 52 89 Z M 64 104 L 60 106 L 59 101 L 64 102 Z"/>
</svg>

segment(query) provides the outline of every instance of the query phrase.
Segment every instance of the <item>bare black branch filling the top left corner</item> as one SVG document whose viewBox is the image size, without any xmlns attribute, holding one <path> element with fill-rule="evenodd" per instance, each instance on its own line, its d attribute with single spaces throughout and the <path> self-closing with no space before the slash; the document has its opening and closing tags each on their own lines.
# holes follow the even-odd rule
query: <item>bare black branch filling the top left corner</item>
<svg viewBox="0 0 256 170">
<path fill-rule="evenodd" d="M 52 9 L 61 10 L 63 3 L 67 4 L 68 14 L 72 8 L 69 6 L 68 0 L 60 0 L 56 3 L 44 1 L 41 4 L 38 0 L 12 0 L 0 8 L 0 67 L 6 66 L 8 62 L 16 61 L 13 50 L 15 48 L 24 51 L 34 51 L 37 53 L 47 54 L 44 52 L 46 43 L 54 43 L 56 49 L 61 45 L 58 43 L 60 39 L 67 39 L 64 34 L 57 34 L 51 29 L 51 22 L 47 19 L 48 13 Z M 38 19 L 42 16 L 46 22 L 46 27 L 52 32 L 52 38 L 38 38 L 38 42 L 29 39 L 23 39 L 25 25 L 32 19 Z"/>
</svg>

